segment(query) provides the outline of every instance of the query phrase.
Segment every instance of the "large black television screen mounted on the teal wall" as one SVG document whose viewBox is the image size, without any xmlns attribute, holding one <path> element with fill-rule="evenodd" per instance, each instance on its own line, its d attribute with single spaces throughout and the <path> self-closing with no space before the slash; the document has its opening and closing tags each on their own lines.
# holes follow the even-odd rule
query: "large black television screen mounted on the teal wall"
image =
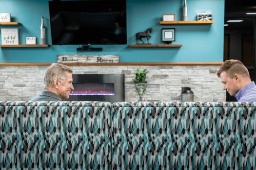
<svg viewBox="0 0 256 170">
<path fill-rule="evenodd" d="M 49 1 L 53 45 L 127 44 L 126 0 Z"/>
</svg>

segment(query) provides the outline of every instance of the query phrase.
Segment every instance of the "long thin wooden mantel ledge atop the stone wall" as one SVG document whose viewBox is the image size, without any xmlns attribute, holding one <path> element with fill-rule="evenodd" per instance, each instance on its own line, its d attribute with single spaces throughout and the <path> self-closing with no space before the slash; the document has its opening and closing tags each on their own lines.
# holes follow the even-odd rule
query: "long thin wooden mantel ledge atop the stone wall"
<svg viewBox="0 0 256 170">
<path fill-rule="evenodd" d="M 1 66 L 50 66 L 52 63 L 0 63 Z M 62 63 L 67 66 L 220 66 L 223 62 Z"/>
</svg>

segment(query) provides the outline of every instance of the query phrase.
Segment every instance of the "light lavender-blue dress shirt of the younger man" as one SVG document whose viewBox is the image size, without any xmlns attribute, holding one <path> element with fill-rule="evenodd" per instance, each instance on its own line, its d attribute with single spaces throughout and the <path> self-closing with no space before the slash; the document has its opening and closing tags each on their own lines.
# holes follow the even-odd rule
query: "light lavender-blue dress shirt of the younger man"
<svg viewBox="0 0 256 170">
<path fill-rule="evenodd" d="M 256 102 L 256 85 L 254 82 L 245 85 L 235 95 L 237 102 Z"/>
</svg>

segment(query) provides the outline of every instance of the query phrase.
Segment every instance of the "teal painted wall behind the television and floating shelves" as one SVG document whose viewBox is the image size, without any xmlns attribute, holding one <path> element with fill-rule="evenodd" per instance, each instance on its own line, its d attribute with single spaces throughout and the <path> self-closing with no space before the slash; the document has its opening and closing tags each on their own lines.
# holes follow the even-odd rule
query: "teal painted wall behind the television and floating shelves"
<svg viewBox="0 0 256 170">
<path fill-rule="evenodd" d="M 183 0 L 127 0 L 127 41 L 136 44 L 135 34 L 152 28 L 151 44 L 162 44 L 161 29 L 176 28 L 176 41 L 181 48 L 130 48 L 128 45 L 97 45 L 103 51 L 79 54 L 118 54 L 120 62 L 219 62 L 223 61 L 224 0 L 187 0 L 188 20 L 197 13 L 213 14 L 211 25 L 160 25 L 162 14 L 175 13 L 182 20 Z M 0 0 L 0 13 L 11 13 L 19 26 L 20 44 L 26 36 L 40 38 L 41 16 L 45 18 L 46 41 L 51 45 L 48 0 Z M 49 48 L 1 48 L 0 62 L 56 62 L 58 54 L 77 54 L 75 45 L 54 45 Z"/>
</svg>

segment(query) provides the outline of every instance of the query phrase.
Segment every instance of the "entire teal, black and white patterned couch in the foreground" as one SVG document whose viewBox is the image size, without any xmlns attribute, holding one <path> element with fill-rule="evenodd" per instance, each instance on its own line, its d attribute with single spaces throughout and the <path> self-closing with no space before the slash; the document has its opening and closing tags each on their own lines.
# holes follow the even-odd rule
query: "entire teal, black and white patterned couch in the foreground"
<svg viewBox="0 0 256 170">
<path fill-rule="evenodd" d="M 1 169 L 254 169 L 256 103 L 0 102 Z"/>
</svg>

